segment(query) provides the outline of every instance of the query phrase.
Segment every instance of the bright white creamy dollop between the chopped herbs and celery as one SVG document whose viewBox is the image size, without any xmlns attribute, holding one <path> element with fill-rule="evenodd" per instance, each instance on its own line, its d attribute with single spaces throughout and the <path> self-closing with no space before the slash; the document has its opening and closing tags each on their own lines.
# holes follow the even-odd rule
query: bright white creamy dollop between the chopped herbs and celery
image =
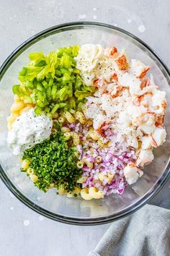
<svg viewBox="0 0 170 256">
<path fill-rule="evenodd" d="M 22 155 L 24 150 L 32 148 L 50 136 L 52 119 L 42 114 L 37 116 L 34 108 L 24 112 L 14 121 L 8 132 L 7 143 L 14 155 Z"/>
</svg>

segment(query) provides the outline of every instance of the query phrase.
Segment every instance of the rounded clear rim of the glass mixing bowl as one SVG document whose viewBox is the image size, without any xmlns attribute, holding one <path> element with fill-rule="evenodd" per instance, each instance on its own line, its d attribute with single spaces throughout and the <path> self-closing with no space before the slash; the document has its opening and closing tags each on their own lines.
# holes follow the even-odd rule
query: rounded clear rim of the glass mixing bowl
<svg viewBox="0 0 170 256">
<path fill-rule="evenodd" d="M 167 78 L 169 78 L 170 81 L 170 72 L 168 67 L 166 67 L 166 64 L 161 60 L 161 58 L 156 54 L 153 49 L 148 46 L 143 40 L 140 40 L 140 38 L 136 37 L 132 33 L 129 33 L 126 30 L 123 30 L 120 27 L 115 27 L 113 25 L 101 23 L 101 22 L 68 22 L 63 23 L 61 25 L 55 25 L 53 27 L 49 27 L 45 30 L 42 30 L 40 33 L 37 33 L 36 35 L 33 35 L 31 38 L 24 41 L 24 43 L 20 44 L 14 51 L 12 51 L 12 54 L 10 54 L 7 59 L 4 61 L 4 63 L 0 67 L 0 81 L 1 77 L 4 76 L 4 73 L 12 63 L 13 59 L 19 56 L 20 53 L 22 53 L 22 50 L 24 51 L 26 48 L 30 46 L 32 42 L 34 42 L 37 39 L 40 39 L 43 36 L 47 36 L 50 32 L 53 32 L 55 30 L 60 30 L 66 27 L 73 27 L 73 26 L 96 26 L 96 27 L 105 27 L 110 28 L 113 30 L 117 30 L 120 33 L 123 33 L 125 35 L 128 35 L 128 37 L 133 38 L 135 41 L 140 43 L 142 46 L 144 46 L 161 64 L 161 66 L 164 68 L 164 71 L 167 73 Z M 27 46 L 27 47 L 25 47 Z M 9 188 L 9 190 L 21 201 L 24 203 L 24 205 L 27 205 L 32 210 L 35 210 L 37 213 L 42 214 L 42 216 L 48 217 L 50 219 L 53 219 L 55 221 L 60 221 L 62 223 L 68 223 L 68 224 L 76 224 L 76 225 L 98 225 L 98 224 L 104 224 L 109 223 L 112 221 L 116 221 L 120 218 L 123 218 L 125 216 L 130 215 L 131 213 L 134 213 L 139 208 L 143 207 L 149 200 L 151 200 L 158 191 L 164 186 L 166 181 L 168 180 L 170 176 L 170 161 L 166 165 L 166 169 L 164 171 L 164 174 L 162 174 L 161 178 L 158 179 L 158 182 L 146 193 L 144 197 L 142 197 L 138 202 L 135 202 L 133 205 L 130 205 L 127 210 L 122 210 L 120 213 L 112 214 L 110 216 L 105 217 L 99 217 L 99 218 L 73 218 L 73 217 L 67 217 L 67 216 L 61 216 L 57 213 L 52 213 L 49 210 L 45 210 L 44 208 L 41 208 L 40 206 L 36 205 L 34 202 L 32 202 L 30 199 L 28 199 L 26 196 L 24 196 L 21 192 L 19 192 L 19 189 L 14 186 L 14 184 L 10 181 L 8 176 L 4 173 L 3 168 L 0 165 L 0 177 L 1 180 L 4 182 L 6 187 Z"/>
</svg>

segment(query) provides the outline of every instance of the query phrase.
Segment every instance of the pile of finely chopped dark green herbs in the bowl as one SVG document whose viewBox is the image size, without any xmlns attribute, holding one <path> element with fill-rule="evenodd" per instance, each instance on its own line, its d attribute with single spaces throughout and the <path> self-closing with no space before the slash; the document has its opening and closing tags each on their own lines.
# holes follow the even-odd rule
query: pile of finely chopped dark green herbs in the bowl
<svg viewBox="0 0 170 256">
<path fill-rule="evenodd" d="M 81 177 L 82 170 L 76 166 L 76 148 L 68 147 L 58 124 L 57 128 L 58 132 L 49 139 L 25 150 L 22 160 L 30 162 L 29 168 L 37 175 L 35 186 L 39 189 L 45 192 L 50 184 L 55 184 L 55 187 L 63 185 L 67 192 L 71 192 L 77 185 L 76 181 Z"/>
</svg>

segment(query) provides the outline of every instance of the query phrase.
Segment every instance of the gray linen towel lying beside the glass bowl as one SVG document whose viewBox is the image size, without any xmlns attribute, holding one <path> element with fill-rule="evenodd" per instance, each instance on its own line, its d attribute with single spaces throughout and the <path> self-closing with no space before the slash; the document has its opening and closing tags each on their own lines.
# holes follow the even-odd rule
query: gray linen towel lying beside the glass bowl
<svg viewBox="0 0 170 256">
<path fill-rule="evenodd" d="M 88 256 L 170 256 L 170 210 L 146 205 L 115 221 Z"/>
</svg>

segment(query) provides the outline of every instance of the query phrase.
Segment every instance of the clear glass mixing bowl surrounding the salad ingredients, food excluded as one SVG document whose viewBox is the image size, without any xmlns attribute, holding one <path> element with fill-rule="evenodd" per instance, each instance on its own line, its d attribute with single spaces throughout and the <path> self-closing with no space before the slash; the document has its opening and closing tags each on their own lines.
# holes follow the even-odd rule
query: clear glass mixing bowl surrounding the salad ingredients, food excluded
<svg viewBox="0 0 170 256">
<path fill-rule="evenodd" d="M 110 195 L 101 200 L 84 201 L 79 198 L 58 196 L 55 189 L 40 192 L 30 179 L 19 171 L 19 158 L 6 145 L 6 116 L 12 105 L 12 85 L 17 83 L 18 72 L 28 62 L 28 54 L 43 51 L 48 54 L 58 47 L 73 44 L 96 43 L 102 46 L 126 48 L 129 59 L 140 59 L 151 67 L 155 82 L 170 100 L 170 74 L 161 59 L 146 43 L 134 35 L 111 25 L 96 22 L 73 22 L 42 31 L 22 43 L 0 70 L 0 163 L 1 179 L 16 197 L 38 213 L 55 221 L 79 225 L 94 225 L 115 221 L 142 207 L 158 192 L 169 176 L 170 104 L 166 111 L 166 142 L 155 150 L 153 163 L 146 166 L 137 183 L 125 189 L 123 195 Z"/>
</svg>

